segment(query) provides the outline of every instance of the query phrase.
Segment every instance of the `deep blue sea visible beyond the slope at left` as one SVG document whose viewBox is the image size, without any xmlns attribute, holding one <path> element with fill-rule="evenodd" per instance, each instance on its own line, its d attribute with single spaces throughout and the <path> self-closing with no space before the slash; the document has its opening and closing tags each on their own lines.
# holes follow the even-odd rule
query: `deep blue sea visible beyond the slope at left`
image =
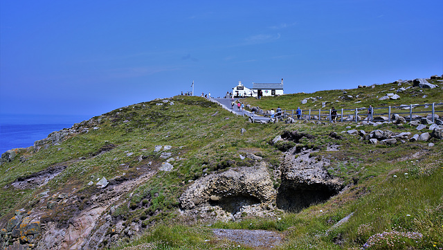
<svg viewBox="0 0 443 250">
<path fill-rule="evenodd" d="M 13 148 L 28 148 L 48 134 L 89 120 L 91 115 L 0 114 L 0 154 Z"/>
</svg>

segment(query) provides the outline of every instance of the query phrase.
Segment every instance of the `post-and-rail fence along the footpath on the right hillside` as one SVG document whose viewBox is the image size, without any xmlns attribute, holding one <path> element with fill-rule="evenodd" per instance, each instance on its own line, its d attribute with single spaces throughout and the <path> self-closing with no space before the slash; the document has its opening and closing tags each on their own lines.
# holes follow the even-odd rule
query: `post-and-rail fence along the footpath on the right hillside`
<svg viewBox="0 0 443 250">
<path fill-rule="evenodd" d="M 413 109 L 424 107 L 421 111 L 413 111 Z M 437 108 L 442 108 L 441 110 L 437 110 Z M 398 110 L 397 110 L 398 109 Z M 402 109 L 408 110 L 402 111 Z M 426 110 L 429 109 L 429 110 Z M 388 107 L 372 107 L 370 114 L 368 114 L 368 107 L 361 107 L 355 109 L 336 109 L 336 119 L 343 121 L 355 121 L 359 120 L 370 120 L 374 121 L 374 116 L 387 116 L 387 121 L 392 119 L 393 114 L 408 114 L 406 116 L 406 120 L 412 121 L 414 120 L 413 114 L 431 114 L 432 122 L 435 122 L 435 115 L 442 114 L 443 116 L 443 103 L 432 103 L 429 105 L 401 105 L 401 106 L 388 106 Z M 300 118 L 302 120 L 328 120 L 332 121 L 332 109 L 304 109 L 301 111 Z M 359 115 L 366 116 L 365 119 L 360 118 Z M 297 119 L 296 109 L 284 109 L 283 110 L 284 117 L 292 117 L 293 119 Z"/>
</svg>

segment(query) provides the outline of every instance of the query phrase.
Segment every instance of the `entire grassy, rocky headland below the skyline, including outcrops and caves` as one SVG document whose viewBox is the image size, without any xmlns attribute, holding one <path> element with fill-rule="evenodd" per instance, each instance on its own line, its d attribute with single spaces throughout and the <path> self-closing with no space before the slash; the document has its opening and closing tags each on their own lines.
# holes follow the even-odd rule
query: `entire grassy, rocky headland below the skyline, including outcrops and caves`
<svg viewBox="0 0 443 250">
<path fill-rule="evenodd" d="M 84 120 L 2 154 L 1 246 L 266 249 L 212 231 L 265 229 L 276 249 L 443 247 L 443 107 L 434 122 L 424 107 L 443 102 L 442 80 L 242 100 L 263 114 L 398 107 L 390 121 L 251 123 L 195 96 Z M 410 104 L 424 112 L 411 121 Z"/>
</svg>

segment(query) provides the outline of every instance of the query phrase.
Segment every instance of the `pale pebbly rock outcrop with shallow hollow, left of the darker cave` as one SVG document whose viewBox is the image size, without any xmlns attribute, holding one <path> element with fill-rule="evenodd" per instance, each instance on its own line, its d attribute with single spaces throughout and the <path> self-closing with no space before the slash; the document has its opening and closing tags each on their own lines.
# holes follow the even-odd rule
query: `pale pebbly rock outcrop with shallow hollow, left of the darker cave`
<svg viewBox="0 0 443 250">
<path fill-rule="evenodd" d="M 248 213 L 248 209 L 271 206 L 275 202 L 275 189 L 266 163 L 261 162 L 253 167 L 231 168 L 202 177 L 181 195 L 179 201 L 188 215 L 192 214 L 190 210 L 208 211 L 213 207 L 212 211 L 219 211 L 221 216 L 234 218 Z"/>
</svg>

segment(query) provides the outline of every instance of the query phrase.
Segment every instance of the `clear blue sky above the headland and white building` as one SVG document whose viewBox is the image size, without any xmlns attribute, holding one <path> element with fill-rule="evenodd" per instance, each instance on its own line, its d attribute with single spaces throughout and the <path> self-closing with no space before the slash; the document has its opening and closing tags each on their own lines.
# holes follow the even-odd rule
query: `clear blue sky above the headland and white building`
<svg viewBox="0 0 443 250">
<path fill-rule="evenodd" d="M 285 93 L 443 73 L 442 0 L 0 0 L 0 114 L 96 116 L 241 80 Z"/>
</svg>

